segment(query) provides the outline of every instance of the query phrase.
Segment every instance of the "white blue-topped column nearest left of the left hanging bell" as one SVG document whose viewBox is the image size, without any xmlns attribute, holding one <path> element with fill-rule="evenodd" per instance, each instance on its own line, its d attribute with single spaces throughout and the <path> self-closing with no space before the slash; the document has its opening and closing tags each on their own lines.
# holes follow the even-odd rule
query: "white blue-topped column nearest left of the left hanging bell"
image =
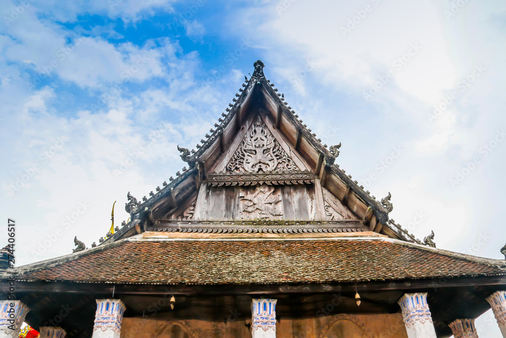
<svg viewBox="0 0 506 338">
<path fill-rule="evenodd" d="M 119 299 L 97 299 L 92 338 L 119 338 L 125 309 Z"/>
</svg>

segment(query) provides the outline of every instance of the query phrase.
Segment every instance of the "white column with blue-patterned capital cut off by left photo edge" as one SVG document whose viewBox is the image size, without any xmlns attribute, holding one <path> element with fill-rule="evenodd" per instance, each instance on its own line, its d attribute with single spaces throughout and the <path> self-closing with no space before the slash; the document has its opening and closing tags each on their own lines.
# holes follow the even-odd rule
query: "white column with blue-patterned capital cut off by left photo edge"
<svg viewBox="0 0 506 338">
<path fill-rule="evenodd" d="M 0 338 L 18 338 L 28 311 L 20 301 L 0 301 Z"/>
</svg>

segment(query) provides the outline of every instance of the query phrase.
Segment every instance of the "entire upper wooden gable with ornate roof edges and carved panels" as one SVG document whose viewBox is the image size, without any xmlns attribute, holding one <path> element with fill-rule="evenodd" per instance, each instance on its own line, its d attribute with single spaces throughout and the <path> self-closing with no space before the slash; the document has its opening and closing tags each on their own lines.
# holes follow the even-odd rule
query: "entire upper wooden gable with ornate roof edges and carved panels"
<svg viewBox="0 0 506 338">
<path fill-rule="evenodd" d="M 183 172 L 151 198 L 129 202 L 132 221 L 115 238 L 136 227 L 137 233 L 375 231 L 420 243 L 389 220 L 389 197 L 380 203 L 334 164 L 339 146 L 321 144 L 263 67 L 255 62 L 235 103 L 196 151 L 178 147 Z"/>
</svg>

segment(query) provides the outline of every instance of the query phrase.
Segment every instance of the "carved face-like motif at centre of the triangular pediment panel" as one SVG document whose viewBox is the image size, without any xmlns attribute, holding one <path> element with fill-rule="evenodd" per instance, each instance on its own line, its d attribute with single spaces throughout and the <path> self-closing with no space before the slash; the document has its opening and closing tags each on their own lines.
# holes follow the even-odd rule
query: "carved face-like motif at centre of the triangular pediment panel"
<svg viewBox="0 0 506 338">
<path fill-rule="evenodd" d="M 244 144 L 244 168 L 249 172 L 274 170 L 278 161 L 274 156 L 274 137 L 265 131 L 265 125 L 256 122 Z"/>
</svg>

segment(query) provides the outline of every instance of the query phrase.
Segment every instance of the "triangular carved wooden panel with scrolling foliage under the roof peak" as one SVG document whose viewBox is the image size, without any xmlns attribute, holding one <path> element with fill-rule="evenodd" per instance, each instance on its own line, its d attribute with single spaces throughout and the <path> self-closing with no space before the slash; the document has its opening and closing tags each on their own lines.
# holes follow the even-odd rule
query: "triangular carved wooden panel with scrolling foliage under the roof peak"
<svg viewBox="0 0 506 338">
<path fill-rule="evenodd" d="M 298 171 L 264 122 L 257 117 L 239 148 L 227 165 L 231 173 L 266 173 L 272 171 Z"/>
</svg>

